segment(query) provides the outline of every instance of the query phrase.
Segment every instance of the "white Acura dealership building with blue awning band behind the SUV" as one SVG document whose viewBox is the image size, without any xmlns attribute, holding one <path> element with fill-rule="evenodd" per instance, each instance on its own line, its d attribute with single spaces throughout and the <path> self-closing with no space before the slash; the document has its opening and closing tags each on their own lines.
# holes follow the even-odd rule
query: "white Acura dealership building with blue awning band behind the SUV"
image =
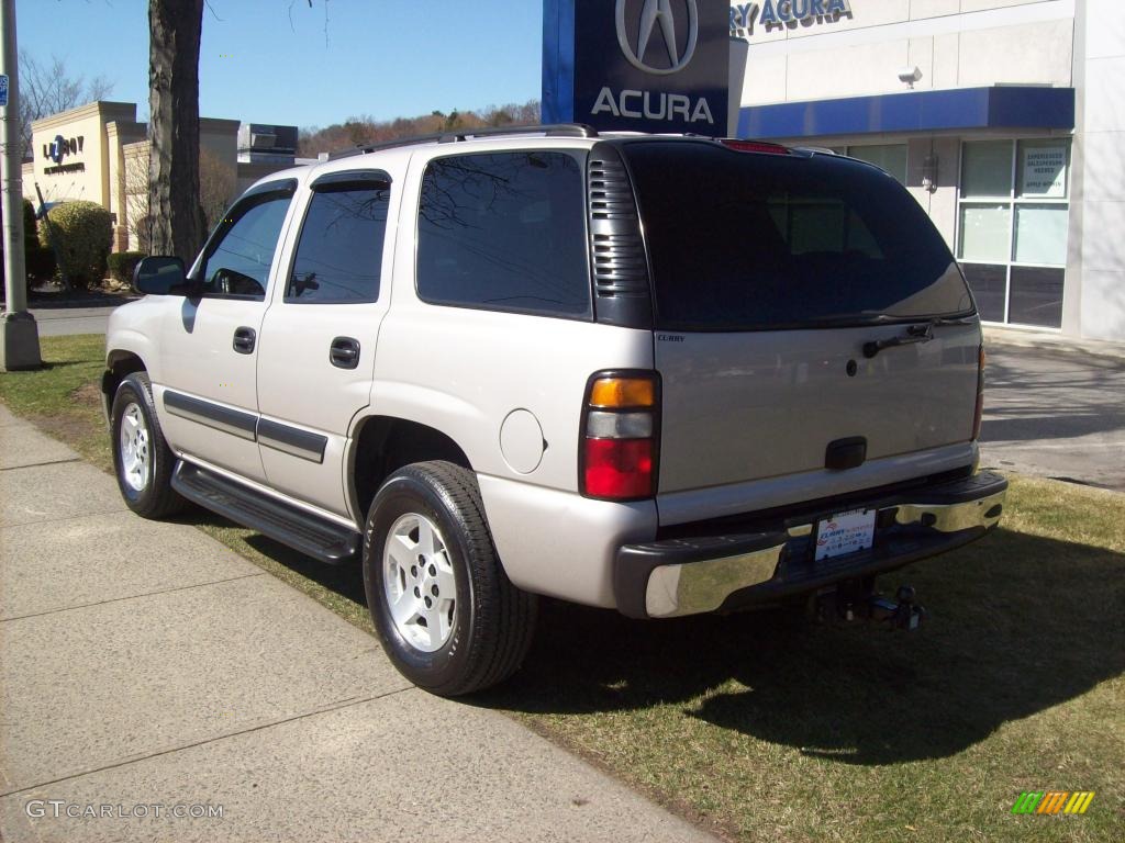
<svg viewBox="0 0 1125 843">
<path fill-rule="evenodd" d="M 987 321 L 1125 341 L 1119 20 L 1104 0 L 736 2 L 738 134 L 894 175 Z"/>
</svg>

